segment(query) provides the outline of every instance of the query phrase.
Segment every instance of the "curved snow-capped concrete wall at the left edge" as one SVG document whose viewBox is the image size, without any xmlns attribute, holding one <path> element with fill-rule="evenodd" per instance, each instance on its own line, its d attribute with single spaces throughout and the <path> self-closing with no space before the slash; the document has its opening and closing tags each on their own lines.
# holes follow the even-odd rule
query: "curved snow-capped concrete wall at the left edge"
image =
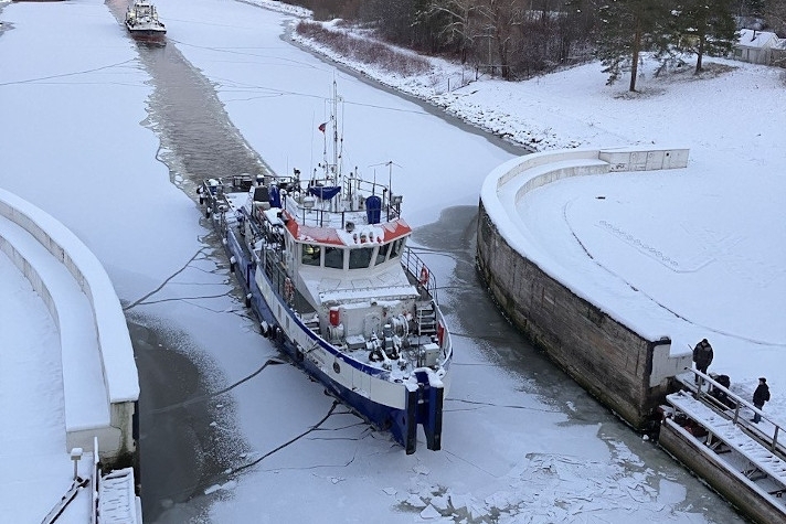
<svg viewBox="0 0 786 524">
<path fill-rule="evenodd" d="M 93 438 L 97 436 L 102 459 L 107 463 L 114 462 L 125 453 L 136 452 L 132 417 L 135 403 L 139 398 L 139 381 L 134 361 L 134 347 L 128 334 L 126 318 L 104 267 L 95 255 L 63 224 L 29 202 L 1 189 L 0 215 L 22 227 L 61 261 L 91 304 L 93 328 L 100 355 L 108 420 L 106 420 L 106 425 L 84 427 L 78 420 L 70 421 L 66 417 L 67 450 L 74 447 L 92 450 Z M 40 261 L 36 261 L 34 257 L 25 256 L 24 249 L 18 249 L 2 237 L 0 237 L 0 247 L 44 300 L 61 335 L 63 359 L 68 359 L 70 355 L 64 349 L 67 349 L 73 342 L 66 339 L 73 330 L 79 328 L 64 325 L 71 321 L 67 316 L 62 314 L 68 304 L 59 303 L 57 293 L 51 291 L 52 286 L 56 282 L 46 281 L 43 277 L 44 272 L 36 268 L 36 264 Z M 78 402 L 78 398 L 65 395 L 64 402 L 67 411 L 70 404 Z M 75 409 L 74 406 L 72 408 Z"/>
</svg>

